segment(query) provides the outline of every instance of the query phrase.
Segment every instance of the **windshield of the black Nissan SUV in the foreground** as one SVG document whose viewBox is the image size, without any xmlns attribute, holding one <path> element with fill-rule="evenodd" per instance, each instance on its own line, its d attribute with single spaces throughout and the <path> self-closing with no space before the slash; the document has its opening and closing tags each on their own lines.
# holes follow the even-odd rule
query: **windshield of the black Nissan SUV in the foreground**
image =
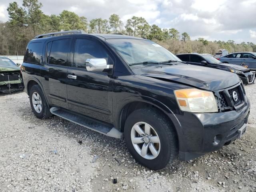
<svg viewBox="0 0 256 192">
<path fill-rule="evenodd" d="M 108 39 L 114 49 L 129 65 L 148 62 L 180 61 L 174 54 L 152 42 L 140 39 Z M 145 65 L 146 67 L 146 65 Z"/>
</svg>

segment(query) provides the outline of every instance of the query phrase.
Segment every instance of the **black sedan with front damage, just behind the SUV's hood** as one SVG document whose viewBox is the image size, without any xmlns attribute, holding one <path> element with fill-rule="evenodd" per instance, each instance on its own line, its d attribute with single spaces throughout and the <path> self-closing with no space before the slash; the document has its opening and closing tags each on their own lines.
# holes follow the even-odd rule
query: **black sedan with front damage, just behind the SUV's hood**
<svg viewBox="0 0 256 192">
<path fill-rule="evenodd" d="M 180 58 L 180 60 L 192 65 L 216 68 L 216 69 L 236 73 L 241 78 L 244 84 L 251 84 L 254 82 L 254 78 L 255 78 L 254 73 L 243 66 L 222 63 L 219 60 L 205 54 L 190 53 L 190 54 L 177 54 L 176 56 Z"/>
</svg>

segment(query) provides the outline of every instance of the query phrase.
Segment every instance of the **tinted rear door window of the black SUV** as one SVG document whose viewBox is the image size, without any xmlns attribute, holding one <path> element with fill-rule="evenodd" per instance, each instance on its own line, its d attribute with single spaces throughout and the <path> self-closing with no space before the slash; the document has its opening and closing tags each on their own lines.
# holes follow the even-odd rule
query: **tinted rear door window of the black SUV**
<svg viewBox="0 0 256 192">
<path fill-rule="evenodd" d="M 70 39 L 55 40 L 50 51 L 50 64 L 68 66 Z"/>
</svg>

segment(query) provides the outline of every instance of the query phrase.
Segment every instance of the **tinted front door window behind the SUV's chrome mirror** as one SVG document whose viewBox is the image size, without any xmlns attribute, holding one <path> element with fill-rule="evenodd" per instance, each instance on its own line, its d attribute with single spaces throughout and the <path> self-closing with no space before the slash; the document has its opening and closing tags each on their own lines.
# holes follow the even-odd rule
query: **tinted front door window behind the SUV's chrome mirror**
<svg viewBox="0 0 256 192">
<path fill-rule="evenodd" d="M 86 69 L 86 59 L 90 58 L 104 58 L 108 65 L 113 64 L 105 48 L 100 43 L 87 39 L 76 39 L 73 66 Z"/>
</svg>

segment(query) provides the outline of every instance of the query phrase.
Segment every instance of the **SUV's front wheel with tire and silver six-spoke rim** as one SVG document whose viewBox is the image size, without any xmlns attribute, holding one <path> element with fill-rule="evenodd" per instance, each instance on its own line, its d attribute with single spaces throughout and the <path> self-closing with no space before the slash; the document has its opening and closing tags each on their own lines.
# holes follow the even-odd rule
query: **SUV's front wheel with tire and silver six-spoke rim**
<svg viewBox="0 0 256 192">
<path fill-rule="evenodd" d="M 158 110 L 132 112 L 125 122 L 124 138 L 134 159 L 151 170 L 165 168 L 177 156 L 176 131 Z"/>
</svg>

